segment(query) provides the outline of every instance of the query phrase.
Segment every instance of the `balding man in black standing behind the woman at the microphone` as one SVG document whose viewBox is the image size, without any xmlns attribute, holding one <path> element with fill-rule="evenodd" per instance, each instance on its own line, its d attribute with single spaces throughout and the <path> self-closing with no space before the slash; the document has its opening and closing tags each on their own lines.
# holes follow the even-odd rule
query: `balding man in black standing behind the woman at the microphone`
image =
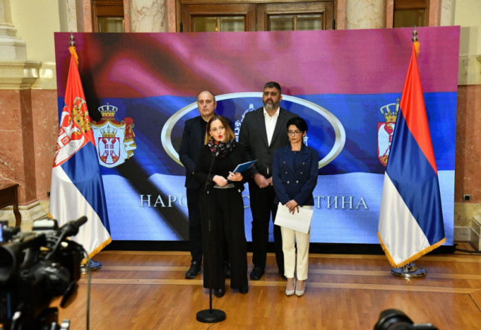
<svg viewBox="0 0 481 330">
<path fill-rule="evenodd" d="M 199 211 L 199 189 L 201 185 L 194 178 L 194 168 L 199 156 L 199 150 L 204 144 L 205 127 L 209 119 L 214 117 L 217 106 L 216 98 L 210 91 L 203 91 L 197 96 L 199 116 L 188 119 L 183 128 L 179 158 L 186 167 L 186 197 L 189 213 L 189 241 L 190 241 L 190 268 L 186 272 L 186 279 L 195 279 L 202 268 L 202 227 L 201 212 Z M 232 121 L 227 119 L 232 125 Z M 224 261 L 225 273 L 229 277 L 229 259 Z"/>
</svg>

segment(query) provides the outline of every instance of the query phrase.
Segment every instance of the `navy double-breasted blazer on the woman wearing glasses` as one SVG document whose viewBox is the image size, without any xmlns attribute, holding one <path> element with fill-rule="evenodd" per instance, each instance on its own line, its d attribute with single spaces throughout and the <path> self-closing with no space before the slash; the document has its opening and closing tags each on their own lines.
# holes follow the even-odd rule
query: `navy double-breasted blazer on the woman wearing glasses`
<svg viewBox="0 0 481 330">
<path fill-rule="evenodd" d="M 314 205 L 313 191 L 317 184 L 319 157 L 313 148 L 302 145 L 296 156 L 291 144 L 276 150 L 272 183 L 276 200 L 282 205 L 295 200 L 301 207 Z"/>
</svg>

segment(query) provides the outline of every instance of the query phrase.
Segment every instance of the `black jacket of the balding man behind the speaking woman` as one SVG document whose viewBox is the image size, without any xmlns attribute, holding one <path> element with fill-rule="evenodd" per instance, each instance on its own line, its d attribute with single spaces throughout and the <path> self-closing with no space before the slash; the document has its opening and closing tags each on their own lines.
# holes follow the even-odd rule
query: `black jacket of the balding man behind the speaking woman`
<svg viewBox="0 0 481 330">
<path fill-rule="evenodd" d="M 232 126 L 232 120 L 229 118 L 227 122 Z M 195 180 L 192 173 L 195 169 L 195 162 L 199 156 L 199 150 L 204 145 L 205 138 L 205 122 L 201 116 L 188 119 L 183 127 L 181 146 L 179 149 L 179 159 L 184 167 L 186 167 L 186 188 L 197 189 L 201 187 L 199 182 Z"/>
</svg>

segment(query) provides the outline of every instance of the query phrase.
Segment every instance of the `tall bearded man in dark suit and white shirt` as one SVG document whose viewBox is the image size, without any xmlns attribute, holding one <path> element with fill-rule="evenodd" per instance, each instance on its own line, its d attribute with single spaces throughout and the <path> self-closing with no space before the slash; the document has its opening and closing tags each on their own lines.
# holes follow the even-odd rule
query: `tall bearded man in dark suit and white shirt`
<svg viewBox="0 0 481 330">
<path fill-rule="evenodd" d="M 298 117 L 280 108 L 282 99 L 280 85 L 267 82 L 262 93 L 264 106 L 245 115 L 240 126 L 239 142 L 245 146 L 249 158 L 257 159 L 249 179 L 250 206 L 252 212 L 252 263 L 251 280 L 259 280 L 265 272 L 269 221 L 276 216 L 274 204 L 276 192 L 272 186 L 272 165 L 276 149 L 289 143 L 286 124 L 292 117 Z M 279 274 L 284 276 L 284 256 L 280 227 L 274 226 L 274 248 Z"/>
</svg>

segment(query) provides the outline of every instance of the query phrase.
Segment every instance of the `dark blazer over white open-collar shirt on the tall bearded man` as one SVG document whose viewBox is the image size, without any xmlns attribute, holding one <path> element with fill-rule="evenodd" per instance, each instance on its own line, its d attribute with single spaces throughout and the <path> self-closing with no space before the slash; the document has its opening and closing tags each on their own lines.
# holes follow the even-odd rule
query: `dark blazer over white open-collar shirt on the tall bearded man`
<svg viewBox="0 0 481 330">
<path fill-rule="evenodd" d="M 266 178 L 272 176 L 272 165 L 276 149 L 289 143 L 286 124 L 292 117 L 298 117 L 295 113 L 280 108 L 276 128 L 272 135 L 271 145 L 267 145 L 267 131 L 265 129 L 264 108 L 247 113 L 240 126 L 239 143 L 244 145 L 249 161 L 257 159 L 251 167 L 251 176 L 260 173 Z"/>
</svg>

